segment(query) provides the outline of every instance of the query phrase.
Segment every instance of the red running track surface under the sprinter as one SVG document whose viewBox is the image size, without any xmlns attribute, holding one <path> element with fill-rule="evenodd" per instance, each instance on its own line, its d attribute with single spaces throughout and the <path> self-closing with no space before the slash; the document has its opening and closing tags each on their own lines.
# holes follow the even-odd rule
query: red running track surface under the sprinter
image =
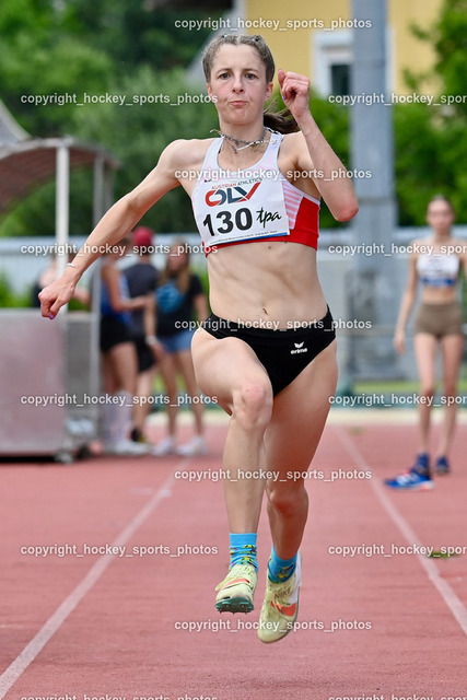
<svg viewBox="0 0 467 700">
<path fill-rule="evenodd" d="M 2 465 L 0 699 L 467 699 L 464 430 L 451 476 L 399 493 L 382 479 L 411 459 L 413 427 L 326 428 L 307 480 L 297 629 L 272 645 L 254 629 L 266 514 L 256 609 L 213 607 L 227 567 L 224 425 L 194 459 Z M 106 546 L 116 553 L 93 553 Z M 51 549 L 27 553 L 38 547 Z"/>
</svg>

